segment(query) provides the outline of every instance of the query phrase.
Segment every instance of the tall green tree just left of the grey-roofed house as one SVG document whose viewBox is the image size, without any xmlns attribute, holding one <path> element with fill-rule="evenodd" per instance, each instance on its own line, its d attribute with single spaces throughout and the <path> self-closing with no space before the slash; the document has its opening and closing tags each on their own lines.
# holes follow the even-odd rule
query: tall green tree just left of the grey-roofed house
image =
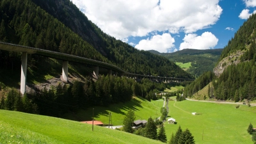
<svg viewBox="0 0 256 144">
<path fill-rule="evenodd" d="M 135 120 L 134 111 L 132 111 L 130 109 L 127 112 L 127 114 L 125 115 L 125 118 L 124 118 L 124 121 L 123 121 L 123 124 L 124 124 L 123 129 L 124 129 L 125 132 L 130 132 L 130 133 L 133 132 L 132 125 L 133 125 L 134 120 Z"/>
</svg>

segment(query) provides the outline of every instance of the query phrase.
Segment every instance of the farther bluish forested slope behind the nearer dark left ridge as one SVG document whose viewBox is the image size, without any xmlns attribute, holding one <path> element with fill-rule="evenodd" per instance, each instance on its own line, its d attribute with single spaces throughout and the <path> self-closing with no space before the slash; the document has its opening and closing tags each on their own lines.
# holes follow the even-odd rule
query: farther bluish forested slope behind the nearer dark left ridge
<svg viewBox="0 0 256 144">
<path fill-rule="evenodd" d="M 33 0 L 35 4 L 72 29 L 116 66 L 136 74 L 191 78 L 174 63 L 146 51 L 138 51 L 131 45 L 102 32 L 95 24 L 68 0 Z"/>
</svg>

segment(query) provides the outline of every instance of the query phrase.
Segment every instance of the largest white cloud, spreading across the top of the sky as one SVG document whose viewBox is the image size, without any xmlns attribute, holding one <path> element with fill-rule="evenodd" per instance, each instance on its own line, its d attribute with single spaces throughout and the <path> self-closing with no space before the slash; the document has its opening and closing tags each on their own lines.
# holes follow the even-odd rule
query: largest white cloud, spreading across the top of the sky
<svg viewBox="0 0 256 144">
<path fill-rule="evenodd" d="M 222 12 L 220 0 L 72 1 L 102 31 L 121 40 L 152 31 L 193 33 L 215 24 Z"/>
</svg>

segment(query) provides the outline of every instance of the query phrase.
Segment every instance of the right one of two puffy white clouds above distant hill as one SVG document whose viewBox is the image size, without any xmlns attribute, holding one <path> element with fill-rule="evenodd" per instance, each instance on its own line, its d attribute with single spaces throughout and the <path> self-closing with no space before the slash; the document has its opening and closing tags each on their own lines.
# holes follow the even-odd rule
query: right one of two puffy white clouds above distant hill
<svg viewBox="0 0 256 144">
<path fill-rule="evenodd" d="M 184 42 L 180 44 L 179 50 L 182 49 L 211 49 L 218 44 L 218 38 L 211 32 L 205 32 L 201 36 L 188 34 L 183 38 Z"/>
</svg>

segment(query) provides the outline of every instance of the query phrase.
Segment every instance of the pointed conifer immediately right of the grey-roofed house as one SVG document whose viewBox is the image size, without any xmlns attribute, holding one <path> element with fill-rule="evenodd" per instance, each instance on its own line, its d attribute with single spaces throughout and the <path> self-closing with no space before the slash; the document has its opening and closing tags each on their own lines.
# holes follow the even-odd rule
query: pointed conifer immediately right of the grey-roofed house
<svg viewBox="0 0 256 144">
<path fill-rule="evenodd" d="M 154 120 L 151 117 L 148 118 L 148 122 L 145 127 L 145 136 L 153 140 L 156 140 L 157 138 L 157 127 Z"/>
</svg>

